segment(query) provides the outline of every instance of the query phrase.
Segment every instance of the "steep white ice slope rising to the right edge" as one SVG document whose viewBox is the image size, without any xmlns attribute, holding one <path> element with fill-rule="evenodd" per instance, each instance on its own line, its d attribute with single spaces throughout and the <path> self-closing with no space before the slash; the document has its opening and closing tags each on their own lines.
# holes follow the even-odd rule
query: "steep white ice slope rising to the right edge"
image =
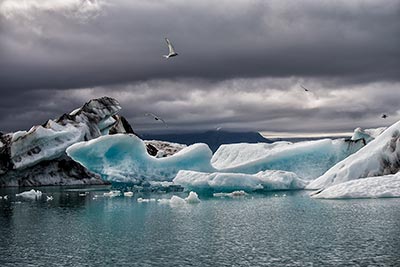
<svg viewBox="0 0 400 267">
<path fill-rule="evenodd" d="M 327 188 L 350 180 L 395 174 L 399 170 L 400 122 L 397 122 L 364 148 L 312 181 L 307 188 Z"/>
</svg>

